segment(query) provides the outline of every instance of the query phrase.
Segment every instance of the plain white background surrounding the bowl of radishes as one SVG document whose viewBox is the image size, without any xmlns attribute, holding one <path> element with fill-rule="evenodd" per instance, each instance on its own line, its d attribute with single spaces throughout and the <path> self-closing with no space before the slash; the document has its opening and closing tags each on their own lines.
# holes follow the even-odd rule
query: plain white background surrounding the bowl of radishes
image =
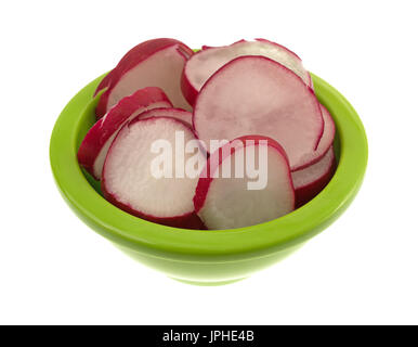
<svg viewBox="0 0 418 347">
<path fill-rule="evenodd" d="M 416 1 L 3 1 L 0 323 L 418 323 Z M 60 112 L 136 43 L 264 37 L 302 56 L 361 115 L 364 185 L 288 259 L 196 287 L 119 253 L 58 194 Z"/>
</svg>

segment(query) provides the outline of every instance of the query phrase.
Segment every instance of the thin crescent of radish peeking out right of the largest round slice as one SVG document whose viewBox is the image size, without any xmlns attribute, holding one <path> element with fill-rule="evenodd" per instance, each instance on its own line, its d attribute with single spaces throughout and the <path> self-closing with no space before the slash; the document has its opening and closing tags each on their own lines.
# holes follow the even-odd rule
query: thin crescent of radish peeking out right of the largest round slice
<svg viewBox="0 0 418 347">
<path fill-rule="evenodd" d="M 305 156 L 303 156 L 301 163 L 306 164 L 300 165 L 299 167 L 295 167 L 292 171 L 301 170 L 319 162 L 328 153 L 328 150 L 332 145 L 334 138 L 336 134 L 336 125 L 328 110 L 324 105 L 321 105 L 321 111 L 324 118 L 324 133 L 319 140 L 318 147 L 315 152 L 308 153 Z"/>
</svg>

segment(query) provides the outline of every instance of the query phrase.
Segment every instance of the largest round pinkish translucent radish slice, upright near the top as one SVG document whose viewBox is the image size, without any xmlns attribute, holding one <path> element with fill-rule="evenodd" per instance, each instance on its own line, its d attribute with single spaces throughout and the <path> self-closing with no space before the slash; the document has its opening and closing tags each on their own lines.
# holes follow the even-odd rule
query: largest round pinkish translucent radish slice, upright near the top
<svg viewBox="0 0 418 347">
<path fill-rule="evenodd" d="M 285 149 L 292 169 L 306 164 L 324 131 L 312 89 L 264 56 L 237 57 L 212 75 L 196 100 L 193 123 L 210 152 L 217 149 L 210 140 L 270 137 Z"/>
</svg>

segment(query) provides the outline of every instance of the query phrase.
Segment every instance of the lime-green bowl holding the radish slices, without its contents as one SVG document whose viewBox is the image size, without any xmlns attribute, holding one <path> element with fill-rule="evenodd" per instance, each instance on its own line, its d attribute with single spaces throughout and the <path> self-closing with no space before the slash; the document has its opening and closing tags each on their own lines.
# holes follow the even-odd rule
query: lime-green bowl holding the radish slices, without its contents
<svg viewBox="0 0 418 347">
<path fill-rule="evenodd" d="M 292 253 L 335 221 L 357 193 L 367 166 L 367 139 L 354 108 L 336 89 L 312 75 L 315 91 L 334 116 L 337 171 L 310 203 L 282 218 L 234 230 L 196 231 L 133 217 L 102 197 L 100 184 L 77 163 L 77 150 L 94 124 L 104 76 L 84 87 L 60 115 L 50 158 L 56 184 L 76 215 L 134 259 L 193 284 L 244 279 Z"/>
</svg>

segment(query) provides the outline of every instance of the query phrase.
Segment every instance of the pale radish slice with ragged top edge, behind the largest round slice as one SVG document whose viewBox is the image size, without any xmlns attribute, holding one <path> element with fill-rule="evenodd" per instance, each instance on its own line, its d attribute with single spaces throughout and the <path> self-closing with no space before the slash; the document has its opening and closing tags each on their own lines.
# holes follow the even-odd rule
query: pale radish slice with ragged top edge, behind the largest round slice
<svg viewBox="0 0 418 347">
<path fill-rule="evenodd" d="M 231 46 L 207 47 L 194 54 L 184 66 L 182 75 L 183 94 L 191 105 L 195 104 L 197 93 L 205 82 L 220 67 L 243 55 L 262 55 L 291 69 L 310 87 L 312 79 L 303 67 L 301 59 L 287 48 L 264 39 L 240 40 Z"/>
</svg>

